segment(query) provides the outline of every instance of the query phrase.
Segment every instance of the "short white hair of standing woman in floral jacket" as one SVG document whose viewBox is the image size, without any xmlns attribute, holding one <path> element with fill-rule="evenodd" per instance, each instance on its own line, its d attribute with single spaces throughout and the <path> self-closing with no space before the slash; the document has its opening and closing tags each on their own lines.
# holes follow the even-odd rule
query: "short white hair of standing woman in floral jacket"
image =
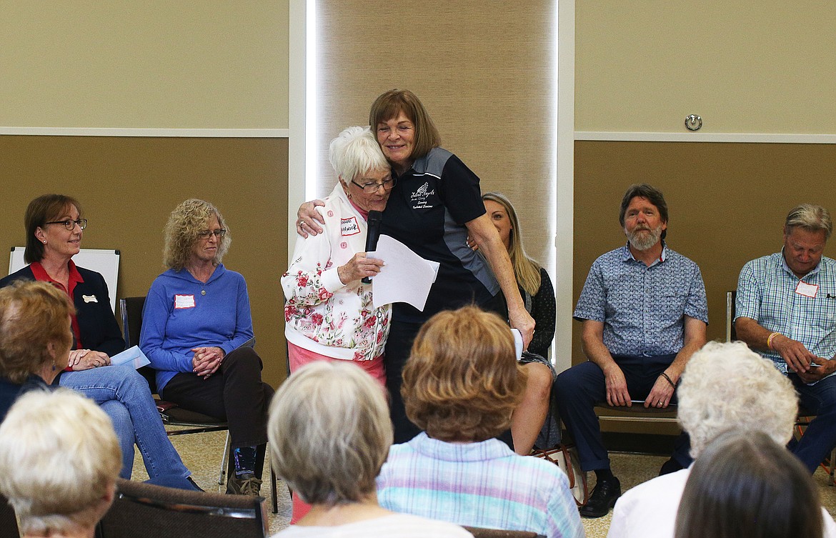
<svg viewBox="0 0 836 538">
<path fill-rule="evenodd" d="M 389 170 L 375 135 L 367 127 L 349 127 L 334 140 L 328 150 L 334 172 L 345 182 L 375 170 Z"/>
</svg>

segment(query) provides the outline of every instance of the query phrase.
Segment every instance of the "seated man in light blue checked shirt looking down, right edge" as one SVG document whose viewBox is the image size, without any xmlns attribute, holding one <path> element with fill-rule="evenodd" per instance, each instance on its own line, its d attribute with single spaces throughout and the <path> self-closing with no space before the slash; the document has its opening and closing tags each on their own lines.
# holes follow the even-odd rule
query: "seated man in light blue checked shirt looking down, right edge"
<svg viewBox="0 0 836 538">
<path fill-rule="evenodd" d="M 737 338 L 789 376 L 816 415 L 790 448 L 810 472 L 836 446 L 836 261 L 822 256 L 830 213 L 802 204 L 789 212 L 780 252 L 749 261 L 737 281 Z"/>
</svg>

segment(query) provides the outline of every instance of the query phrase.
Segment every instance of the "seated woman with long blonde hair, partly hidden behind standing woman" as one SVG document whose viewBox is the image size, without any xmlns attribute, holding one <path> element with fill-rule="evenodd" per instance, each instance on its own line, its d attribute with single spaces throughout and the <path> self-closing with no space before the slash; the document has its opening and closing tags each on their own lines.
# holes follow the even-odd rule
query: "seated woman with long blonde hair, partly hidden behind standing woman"
<svg viewBox="0 0 836 538">
<path fill-rule="evenodd" d="M 514 452 L 528 455 L 543 428 L 552 383 L 557 377 L 548 362 L 548 348 L 554 339 L 554 288 L 548 272 L 528 257 L 523 248 L 523 231 L 511 200 L 498 192 L 486 192 L 482 195 L 482 201 L 485 202 L 487 216 L 491 218 L 511 258 L 525 309 L 535 322 L 534 336 L 528 344 L 528 351 L 533 354 L 527 353 L 521 360 L 526 373 L 526 390 L 523 401 L 514 409 L 511 417 Z"/>
</svg>

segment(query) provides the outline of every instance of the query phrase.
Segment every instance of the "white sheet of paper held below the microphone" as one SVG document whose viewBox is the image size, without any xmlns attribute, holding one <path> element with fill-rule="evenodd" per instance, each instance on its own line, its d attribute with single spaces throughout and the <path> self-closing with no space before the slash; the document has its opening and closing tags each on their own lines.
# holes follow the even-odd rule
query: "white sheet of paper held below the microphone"
<svg viewBox="0 0 836 538">
<path fill-rule="evenodd" d="M 380 273 L 371 279 L 375 308 L 390 302 L 406 302 L 424 310 L 426 297 L 438 275 L 437 261 L 425 260 L 390 236 L 380 236 L 377 250 L 367 256 L 386 262 Z"/>
</svg>

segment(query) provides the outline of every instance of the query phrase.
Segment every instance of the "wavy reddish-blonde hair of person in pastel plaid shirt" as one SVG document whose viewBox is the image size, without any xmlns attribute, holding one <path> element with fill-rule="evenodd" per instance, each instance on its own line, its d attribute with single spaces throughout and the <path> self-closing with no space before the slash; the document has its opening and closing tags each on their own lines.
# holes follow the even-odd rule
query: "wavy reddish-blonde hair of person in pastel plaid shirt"
<svg viewBox="0 0 836 538">
<path fill-rule="evenodd" d="M 526 383 L 510 327 L 478 307 L 431 317 L 415 337 L 403 376 L 406 416 L 442 441 L 501 434 Z"/>
</svg>

